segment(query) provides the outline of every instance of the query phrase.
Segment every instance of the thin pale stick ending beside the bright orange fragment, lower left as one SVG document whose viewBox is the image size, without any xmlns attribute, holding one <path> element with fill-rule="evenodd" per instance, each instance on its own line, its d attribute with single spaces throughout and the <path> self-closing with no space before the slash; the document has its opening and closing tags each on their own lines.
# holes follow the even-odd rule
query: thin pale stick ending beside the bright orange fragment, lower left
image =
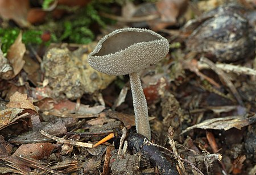
<svg viewBox="0 0 256 175">
<path fill-rule="evenodd" d="M 85 147 L 85 148 L 92 148 L 93 147 L 93 144 L 91 144 L 91 143 L 84 143 L 84 142 L 81 142 L 81 141 L 74 141 L 74 140 L 67 140 L 67 139 L 63 139 L 63 138 L 58 138 L 56 136 L 48 134 L 46 131 L 43 131 L 43 130 L 39 130 L 39 132 L 42 135 L 46 136 L 47 138 L 55 140 L 59 143 L 70 144 L 70 145 L 75 145 L 75 146 L 78 146 L 78 147 Z"/>
</svg>

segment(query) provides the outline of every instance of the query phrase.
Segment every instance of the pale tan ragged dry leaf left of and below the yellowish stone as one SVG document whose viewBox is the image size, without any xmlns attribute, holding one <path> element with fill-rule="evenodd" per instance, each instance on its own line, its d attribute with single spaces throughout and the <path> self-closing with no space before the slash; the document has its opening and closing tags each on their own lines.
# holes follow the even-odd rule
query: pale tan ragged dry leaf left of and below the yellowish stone
<svg viewBox="0 0 256 175">
<path fill-rule="evenodd" d="M 18 91 L 11 95 L 10 102 L 6 106 L 37 111 L 32 101 L 27 98 L 27 94 L 20 94 Z"/>
</svg>

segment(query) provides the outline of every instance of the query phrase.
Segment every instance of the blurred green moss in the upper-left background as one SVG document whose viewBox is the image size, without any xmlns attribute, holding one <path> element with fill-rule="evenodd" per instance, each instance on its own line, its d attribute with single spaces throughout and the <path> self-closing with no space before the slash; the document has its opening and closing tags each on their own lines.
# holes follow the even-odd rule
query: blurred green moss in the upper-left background
<svg viewBox="0 0 256 175">
<path fill-rule="evenodd" d="M 47 8 L 51 3 L 51 0 L 44 0 L 43 6 Z M 105 20 L 99 14 L 96 8 L 104 6 L 97 4 L 96 1 L 92 1 L 85 7 L 77 8 L 71 15 L 63 16 L 61 20 L 53 21 L 48 20 L 48 23 L 44 23 L 40 26 L 32 26 L 33 29 L 24 30 L 22 35 L 22 41 L 24 44 L 42 44 L 41 36 L 43 31 L 49 31 L 51 33 L 50 42 L 57 43 L 78 43 L 88 44 L 95 38 L 97 31 L 92 31 L 97 28 L 104 28 L 106 26 Z M 19 28 L 0 28 L 0 44 L 3 53 L 7 53 L 11 44 L 14 43 L 16 37 L 19 34 Z M 47 43 L 44 43 L 47 44 Z"/>
</svg>

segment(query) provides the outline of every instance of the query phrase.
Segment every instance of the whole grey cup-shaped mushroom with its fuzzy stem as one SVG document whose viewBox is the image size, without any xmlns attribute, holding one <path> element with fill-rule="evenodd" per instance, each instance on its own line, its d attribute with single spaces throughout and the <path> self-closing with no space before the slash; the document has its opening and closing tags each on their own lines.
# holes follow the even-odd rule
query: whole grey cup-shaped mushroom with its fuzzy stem
<svg viewBox="0 0 256 175">
<path fill-rule="evenodd" d="M 151 132 L 147 102 L 138 72 L 163 59 L 168 51 L 168 40 L 154 31 L 121 28 L 104 36 L 88 55 L 90 66 L 99 72 L 115 76 L 129 74 L 136 130 L 148 139 Z"/>
</svg>

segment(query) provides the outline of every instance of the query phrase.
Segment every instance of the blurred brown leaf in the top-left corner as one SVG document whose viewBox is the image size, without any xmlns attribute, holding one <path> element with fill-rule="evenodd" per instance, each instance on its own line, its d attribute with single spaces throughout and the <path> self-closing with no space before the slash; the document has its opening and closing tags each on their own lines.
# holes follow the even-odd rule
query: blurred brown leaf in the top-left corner
<svg viewBox="0 0 256 175">
<path fill-rule="evenodd" d="M 27 11 L 29 1 L 0 0 L 0 15 L 3 19 L 13 19 L 21 27 L 28 27 Z"/>
</svg>

